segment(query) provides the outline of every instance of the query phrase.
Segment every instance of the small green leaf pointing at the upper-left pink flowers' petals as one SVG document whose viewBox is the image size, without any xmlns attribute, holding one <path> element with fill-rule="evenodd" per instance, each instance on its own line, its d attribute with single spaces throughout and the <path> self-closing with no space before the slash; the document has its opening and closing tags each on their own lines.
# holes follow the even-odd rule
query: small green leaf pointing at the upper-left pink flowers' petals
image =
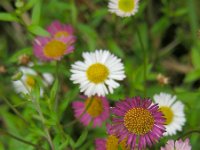
<svg viewBox="0 0 200 150">
<path fill-rule="evenodd" d="M 45 29 L 43 29 L 42 27 L 38 26 L 38 25 L 30 25 L 28 26 L 28 30 L 36 35 L 40 35 L 40 36 L 50 36 L 49 32 L 47 32 Z"/>
</svg>

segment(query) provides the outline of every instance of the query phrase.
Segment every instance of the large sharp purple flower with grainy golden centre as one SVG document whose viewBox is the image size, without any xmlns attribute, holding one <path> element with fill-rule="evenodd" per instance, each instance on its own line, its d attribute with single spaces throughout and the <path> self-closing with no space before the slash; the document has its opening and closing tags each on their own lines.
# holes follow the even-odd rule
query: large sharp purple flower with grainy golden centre
<svg viewBox="0 0 200 150">
<path fill-rule="evenodd" d="M 111 111 L 114 114 L 111 131 L 120 140 L 127 138 L 127 145 L 131 149 L 136 146 L 139 150 L 145 149 L 165 132 L 165 118 L 158 105 L 152 104 L 150 99 L 127 98 L 118 102 Z"/>
</svg>

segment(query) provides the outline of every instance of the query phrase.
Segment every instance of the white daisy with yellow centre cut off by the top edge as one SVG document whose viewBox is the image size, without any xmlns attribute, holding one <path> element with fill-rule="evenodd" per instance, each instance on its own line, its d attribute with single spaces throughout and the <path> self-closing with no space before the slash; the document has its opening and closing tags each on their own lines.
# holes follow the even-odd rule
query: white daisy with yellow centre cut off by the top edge
<svg viewBox="0 0 200 150">
<path fill-rule="evenodd" d="M 129 17 L 138 11 L 139 0 L 110 0 L 108 8 L 120 17 Z"/>
</svg>

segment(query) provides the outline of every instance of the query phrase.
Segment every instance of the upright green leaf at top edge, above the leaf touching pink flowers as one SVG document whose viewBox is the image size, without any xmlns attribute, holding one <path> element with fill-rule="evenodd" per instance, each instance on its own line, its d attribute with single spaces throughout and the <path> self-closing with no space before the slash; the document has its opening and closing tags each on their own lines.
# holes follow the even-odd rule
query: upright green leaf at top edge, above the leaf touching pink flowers
<svg viewBox="0 0 200 150">
<path fill-rule="evenodd" d="M 38 25 L 40 22 L 41 7 L 42 7 L 41 1 L 39 1 L 33 7 L 31 19 L 32 19 L 32 24 L 34 24 L 34 25 Z"/>
</svg>

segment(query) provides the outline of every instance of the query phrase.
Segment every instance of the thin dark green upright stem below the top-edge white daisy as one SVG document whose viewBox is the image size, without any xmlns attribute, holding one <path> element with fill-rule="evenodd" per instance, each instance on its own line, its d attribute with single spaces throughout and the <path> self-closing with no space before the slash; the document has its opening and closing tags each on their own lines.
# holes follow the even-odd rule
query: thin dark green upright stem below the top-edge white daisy
<svg viewBox="0 0 200 150">
<path fill-rule="evenodd" d="M 140 46 L 141 46 L 141 49 L 143 51 L 143 59 L 144 59 L 144 97 L 146 96 L 146 81 L 147 81 L 147 54 L 146 54 L 146 50 L 145 50 L 145 47 L 144 47 L 144 44 L 142 42 L 142 37 L 141 37 L 141 34 L 140 34 L 140 31 L 139 29 L 137 28 L 136 26 L 136 30 L 137 30 L 137 36 L 138 36 L 138 40 L 139 40 L 139 43 L 140 43 Z"/>
</svg>

